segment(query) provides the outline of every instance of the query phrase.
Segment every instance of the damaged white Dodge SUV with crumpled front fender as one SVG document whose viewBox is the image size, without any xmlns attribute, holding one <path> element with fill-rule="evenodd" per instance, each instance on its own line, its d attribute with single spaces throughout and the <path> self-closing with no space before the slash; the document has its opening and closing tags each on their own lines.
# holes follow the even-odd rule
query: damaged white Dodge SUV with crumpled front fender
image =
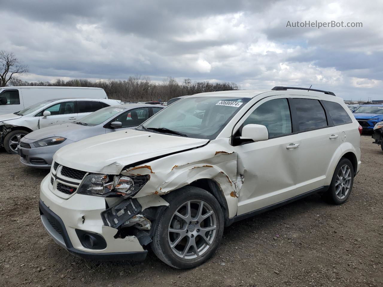
<svg viewBox="0 0 383 287">
<path fill-rule="evenodd" d="M 332 92 L 217 91 L 61 148 L 39 207 L 72 254 L 140 260 L 151 248 L 191 268 L 237 220 L 316 192 L 344 203 L 359 168 L 360 126 Z"/>
</svg>

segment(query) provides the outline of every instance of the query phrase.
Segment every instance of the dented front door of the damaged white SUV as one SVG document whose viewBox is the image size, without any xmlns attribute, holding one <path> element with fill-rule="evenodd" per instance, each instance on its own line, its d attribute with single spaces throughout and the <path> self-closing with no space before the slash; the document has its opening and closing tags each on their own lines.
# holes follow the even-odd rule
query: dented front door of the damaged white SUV
<svg viewBox="0 0 383 287">
<path fill-rule="evenodd" d="M 241 123 L 242 121 L 242 123 Z M 294 134 L 287 98 L 273 96 L 250 109 L 234 137 L 246 124 L 267 127 L 269 139 L 237 142 L 237 173 L 243 174 L 237 215 L 245 214 L 295 196 L 299 164 L 299 134 Z M 288 148 L 290 145 L 298 148 Z"/>
</svg>

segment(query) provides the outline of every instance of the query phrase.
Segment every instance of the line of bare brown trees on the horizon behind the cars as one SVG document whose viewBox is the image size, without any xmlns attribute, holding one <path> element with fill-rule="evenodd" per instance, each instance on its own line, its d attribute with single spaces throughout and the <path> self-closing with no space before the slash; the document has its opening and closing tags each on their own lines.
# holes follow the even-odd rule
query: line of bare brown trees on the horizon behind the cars
<svg viewBox="0 0 383 287">
<path fill-rule="evenodd" d="M 128 80 L 100 80 L 75 79 L 64 81 L 57 79 L 54 82 L 27 82 L 13 78 L 9 86 L 77 86 L 103 88 L 110 99 L 122 101 L 167 101 L 178 96 L 194 95 L 197 93 L 211 92 L 216 89 L 238 89 L 236 83 L 195 81 L 189 78 L 178 83 L 174 78 L 167 77 L 161 83 L 153 82 L 149 77 L 135 75 Z"/>
</svg>

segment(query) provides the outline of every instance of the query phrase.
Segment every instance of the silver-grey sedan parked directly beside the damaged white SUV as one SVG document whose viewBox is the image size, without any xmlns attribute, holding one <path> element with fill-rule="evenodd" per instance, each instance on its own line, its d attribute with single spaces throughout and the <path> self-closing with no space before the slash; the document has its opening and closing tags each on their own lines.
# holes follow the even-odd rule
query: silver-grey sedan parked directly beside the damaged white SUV
<svg viewBox="0 0 383 287">
<path fill-rule="evenodd" d="M 132 129 L 163 108 L 153 104 L 109 106 L 69 124 L 35 130 L 20 140 L 20 161 L 26 166 L 49 169 L 54 153 L 65 145 L 95 135 Z"/>
</svg>

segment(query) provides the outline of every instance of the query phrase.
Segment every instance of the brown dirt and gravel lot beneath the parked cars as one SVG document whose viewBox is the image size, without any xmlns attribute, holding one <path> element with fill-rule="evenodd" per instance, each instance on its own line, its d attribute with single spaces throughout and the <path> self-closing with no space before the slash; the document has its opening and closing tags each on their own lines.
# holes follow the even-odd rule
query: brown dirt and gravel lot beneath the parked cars
<svg viewBox="0 0 383 287">
<path fill-rule="evenodd" d="M 47 171 L 0 152 L 1 286 L 383 286 L 383 153 L 362 137 L 362 170 L 349 201 L 318 195 L 226 228 L 203 266 L 76 258 L 49 238 L 38 212 Z"/>
</svg>

